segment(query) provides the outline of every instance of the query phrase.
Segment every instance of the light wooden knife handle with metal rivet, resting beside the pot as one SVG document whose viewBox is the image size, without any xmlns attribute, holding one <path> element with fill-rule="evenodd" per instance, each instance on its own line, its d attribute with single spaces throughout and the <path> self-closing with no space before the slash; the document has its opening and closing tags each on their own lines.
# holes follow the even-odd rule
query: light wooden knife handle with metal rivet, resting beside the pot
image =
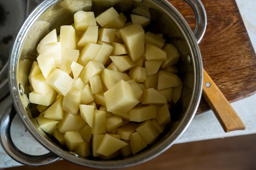
<svg viewBox="0 0 256 170">
<path fill-rule="evenodd" d="M 205 70 L 202 95 L 225 132 L 245 130 L 245 124 Z"/>
</svg>

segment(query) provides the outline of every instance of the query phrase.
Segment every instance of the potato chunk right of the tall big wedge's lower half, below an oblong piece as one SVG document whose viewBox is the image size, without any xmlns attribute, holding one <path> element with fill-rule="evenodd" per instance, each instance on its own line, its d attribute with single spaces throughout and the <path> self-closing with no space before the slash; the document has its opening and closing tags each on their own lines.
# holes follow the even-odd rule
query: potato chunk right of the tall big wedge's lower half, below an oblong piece
<svg viewBox="0 0 256 170">
<path fill-rule="evenodd" d="M 146 54 L 147 61 L 166 61 L 167 60 L 166 51 L 152 44 L 145 45 L 145 54 Z"/>
</svg>

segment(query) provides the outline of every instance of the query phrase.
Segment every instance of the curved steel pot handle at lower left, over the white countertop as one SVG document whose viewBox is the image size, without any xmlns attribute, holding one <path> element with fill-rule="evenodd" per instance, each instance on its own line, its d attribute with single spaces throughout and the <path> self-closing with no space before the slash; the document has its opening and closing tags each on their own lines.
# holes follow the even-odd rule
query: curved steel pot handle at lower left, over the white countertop
<svg viewBox="0 0 256 170">
<path fill-rule="evenodd" d="M 48 163 L 52 163 L 60 157 L 49 152 L 45 155 L 28 155 L 21 150 L 19 150 L 11 139 L 11 122 L 16 115 L 16 110 L 12 104 L 7 106 L 3 111 L 0 124 L 0 142 L 5 152 L 14 160 L 19 163 L 28 166 L 42 166 Z"/>
</svg>

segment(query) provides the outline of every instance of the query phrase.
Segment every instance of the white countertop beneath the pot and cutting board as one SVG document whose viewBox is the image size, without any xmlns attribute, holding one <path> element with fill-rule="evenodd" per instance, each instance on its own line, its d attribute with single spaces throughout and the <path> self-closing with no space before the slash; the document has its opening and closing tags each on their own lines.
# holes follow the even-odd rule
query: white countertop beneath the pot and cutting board
<svg viewBox="0 0 256 170">
<path fill-rule="evenodd" d="M 256 1 L 236 0 L 236 3 L 255 51 Z M 7 97 L 7 99 L 5 99 L 1 105 L 7 106 L 7 104 L 10 102 L 10 97 Z M 184 134 L 175 141 L 175 144 L 238 135 L 256 134 L 256 94 L 231 103 L 231 106 L 233 106 L 234 110 L 236 110 L 239 117 L 244 122 L 246 126 L 245 130 L 236 130 L 227 133 L 224 132 L 215 115 L 210 110 L 200 115 L 196 115 Z M 3 109 L 4 108 L 0 108 L 0 113 L 2 113 Z M 27 132 L 25 126 L 22 124 L 18 116 L 14 118 L 13 124 L 11 125 L 11 135 L 16 146 L 23 152 L 31 155 L 41 155 L 48 152 L 29 134 L 29 132 Z M 20 163 L 11 159 L 11 157 L 9 157 L 6 152 L 4 152 L 2 146 L 0 146 L 0 160 L 0 168 L 8 168 L 21 165 Z"/>
</svg>

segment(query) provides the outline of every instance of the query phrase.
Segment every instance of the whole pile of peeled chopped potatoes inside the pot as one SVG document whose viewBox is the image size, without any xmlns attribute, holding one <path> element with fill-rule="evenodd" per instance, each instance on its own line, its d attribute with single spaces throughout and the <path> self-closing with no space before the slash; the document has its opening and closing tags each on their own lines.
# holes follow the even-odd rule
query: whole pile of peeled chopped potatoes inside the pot
<svg viewBox="0 0 256 170">
<path fill-rule="evenodd" d="M 180 54 L 150 19 L 113 7 L 78 11 L 38 44 L 29 73 L 29 102 L 40 128 L 81 157 L 127 157 L 153 144 L 171 122 L 182 81 Z"/>
</svg>

